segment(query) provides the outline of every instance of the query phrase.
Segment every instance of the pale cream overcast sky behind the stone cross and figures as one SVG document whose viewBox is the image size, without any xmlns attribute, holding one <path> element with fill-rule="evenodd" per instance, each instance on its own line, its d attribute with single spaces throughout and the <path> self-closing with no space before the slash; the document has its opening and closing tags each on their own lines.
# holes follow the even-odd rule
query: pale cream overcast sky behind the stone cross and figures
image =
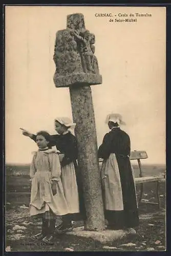
<svg viewBox="0 0 171 256">
<path fill-rule="evenodd" d="M 68 88 L 55 88 L 55 34 L 67 15 L 82 13 L 95 34 L 102 84 L 92 86 L 98 145 L 109 131 L 110 112 L 126 122 L 131 150 L 143 163 L 165 163 L 165 8 L 6 7 L 6 162 L 29 163 L 36 144 L 19 127 L 54 134 L 54 118 L 72 118 Z M 151 13 L 135 23 L 110 23 L 95 13 Z"/>
</svg>

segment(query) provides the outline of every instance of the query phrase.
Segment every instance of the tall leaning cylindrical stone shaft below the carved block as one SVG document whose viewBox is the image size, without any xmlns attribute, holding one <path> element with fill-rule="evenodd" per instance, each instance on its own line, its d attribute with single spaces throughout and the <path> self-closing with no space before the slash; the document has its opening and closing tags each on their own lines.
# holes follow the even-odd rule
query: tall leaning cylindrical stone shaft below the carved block
<svg viewBox="0 0 171 256">
<path fill-rule="evenodd" d="M 85 228 L 104 229 L 104 213 L 100 172 L 97 156 L 97 137 L 91 88 L 73 85 L 70 87 L 75 134 L 78 141 L 78 165 L 81 170 L 83 195 L 87 211 Z"/>
</svg>

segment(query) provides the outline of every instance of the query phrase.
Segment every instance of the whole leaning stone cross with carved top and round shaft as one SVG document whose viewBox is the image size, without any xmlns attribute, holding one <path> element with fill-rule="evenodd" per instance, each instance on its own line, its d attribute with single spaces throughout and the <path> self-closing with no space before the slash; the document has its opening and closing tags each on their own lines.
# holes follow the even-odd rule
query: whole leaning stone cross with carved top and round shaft
<svg viewBox="0 0 171 256">
<path fill-rule="evenodd" d="M 91 87 L 101 84 L 95 53 L 95 35 L 85 28 L 80 13 L 67 16 L 67 29 L 56 33 L 54 62 L 56 87 L 68 87 L 75 135 L 78 167 L 83 184 L 87 221 L 84 229 L 103 230 L 104 212 L 97 156 L 97 136 Z"/>
</svg>

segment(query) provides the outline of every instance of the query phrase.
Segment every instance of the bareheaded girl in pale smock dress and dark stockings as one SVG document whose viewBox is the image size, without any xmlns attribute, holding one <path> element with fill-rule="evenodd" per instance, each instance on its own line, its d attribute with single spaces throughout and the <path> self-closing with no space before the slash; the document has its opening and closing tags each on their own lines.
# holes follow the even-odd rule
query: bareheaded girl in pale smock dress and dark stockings
<svg viewBox="0 0 171 256">
<path fill-rule="evenodd" d="M 53 233 L 57 216 L 68 214 L 68 205 L 61 183 L 59 156 L 49 149 L 50 135 L 40 131 L 35 136 L 38 151 L 34 153 L 31 167 L 30 215 L 42 219 L 42 231 L 33 240 L 53 244 Z"/>
</svg>

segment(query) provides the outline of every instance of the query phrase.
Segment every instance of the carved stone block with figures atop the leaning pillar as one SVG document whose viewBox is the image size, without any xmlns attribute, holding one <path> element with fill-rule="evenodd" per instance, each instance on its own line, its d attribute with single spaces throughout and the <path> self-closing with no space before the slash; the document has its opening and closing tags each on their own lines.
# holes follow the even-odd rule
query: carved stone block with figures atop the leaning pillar
<svg viewBox="0 0 171 256">
<path fill-rule="evenodd" d="M 56 33 L 54 62 L 56 87 L 69 87 L 74 83 L 102 83 L 95 53 L 95 35 L 85 28 L 82 14 L 67 16 L 67 29 Z"/>
</svg>

